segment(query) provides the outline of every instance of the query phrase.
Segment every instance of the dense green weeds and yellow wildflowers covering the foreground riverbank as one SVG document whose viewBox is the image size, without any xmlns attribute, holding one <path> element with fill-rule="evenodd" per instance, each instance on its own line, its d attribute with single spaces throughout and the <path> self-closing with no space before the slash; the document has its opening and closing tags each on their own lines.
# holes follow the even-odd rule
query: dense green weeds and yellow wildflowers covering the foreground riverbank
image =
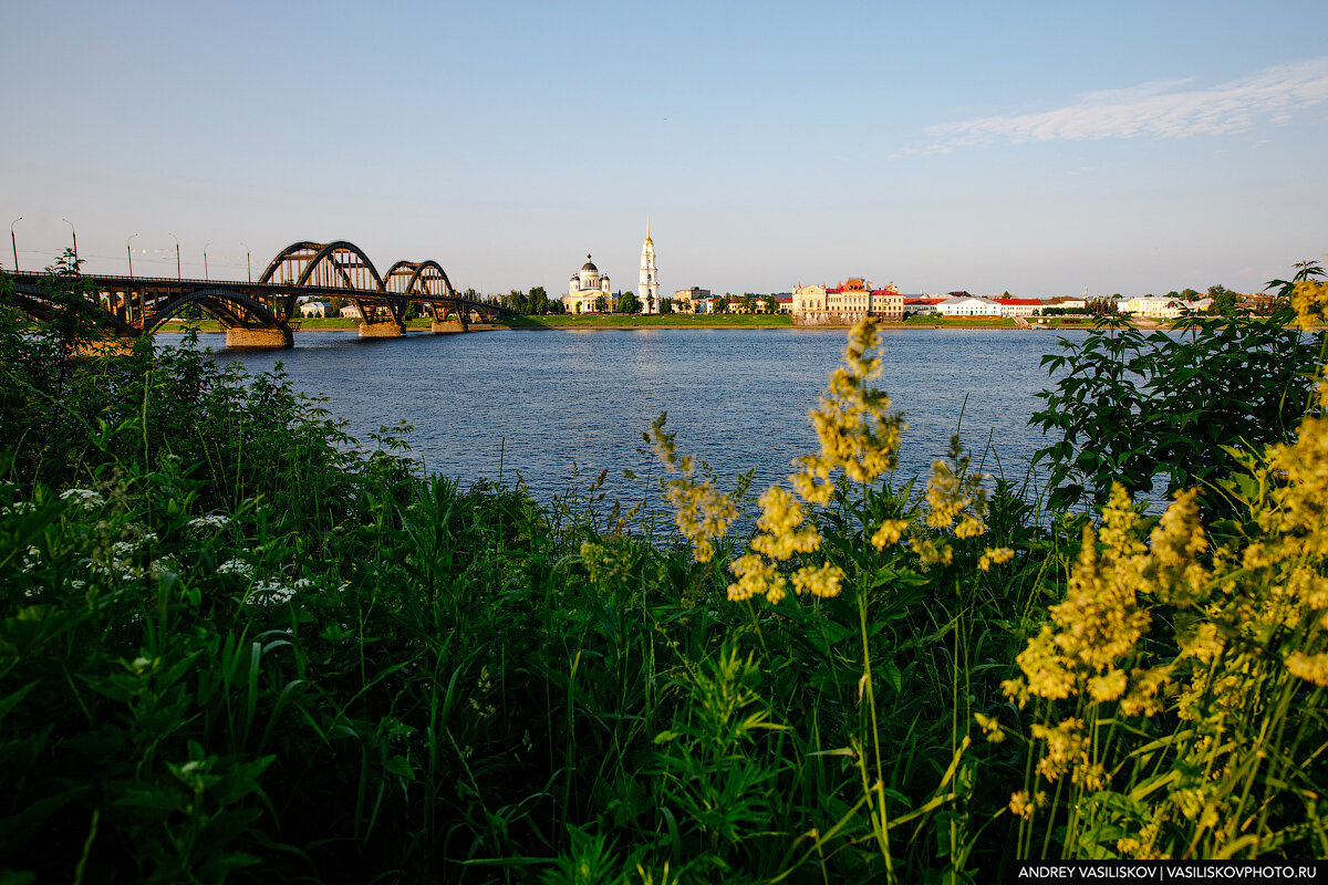
<svg viewBox="0 0 1328 885">
<path fill-rule="evenodd" d="M 352 441 L 280 370 L 80 356 L 77 264 L 48 285 L 40 334 L 0 310 L 0 881 L 1328 852 L 1321 389 L 1231 452 L 1220 521 L 1121 487 L 1046 513 L 957 439 L 895 476 L 863 324 L 819 450 L 754 508 L 664 417 L 667 511 L 603 475 L 538 506 L 422 475 L 408 427 Z M 1303 318 L 1323 301 L 1297 288 Z"/>
</svg>

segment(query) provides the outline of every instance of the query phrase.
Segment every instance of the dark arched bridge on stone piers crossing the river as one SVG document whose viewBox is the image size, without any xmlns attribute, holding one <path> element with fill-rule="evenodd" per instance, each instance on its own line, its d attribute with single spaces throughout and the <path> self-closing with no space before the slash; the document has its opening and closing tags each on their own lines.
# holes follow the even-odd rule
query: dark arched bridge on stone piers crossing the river
<svg viewBox="0 0 1328 885">
<path fill-rule="evenodd" d="M 15 296 L 37 320 L 50 318 L 41 273 L 11 273 Z M 461 297 L 437 261 L 397 261 L 380 275 L 360 247 L 345 240 L 292 243 L 267 265 L 258 283 L 179 277 L 105 276 L 82 279 L 97 292 L 94 312 L 121 337 L 151 334 L 190 306 L 226 332 L 230 348 L 290 348 L 301 303 L 339 299 L 352 305 L 360 337 L 406 333 L 406 309 L 421 305 L 436 334 L 469 332 L 507 314 L 506 308 Z"/>
</svg>

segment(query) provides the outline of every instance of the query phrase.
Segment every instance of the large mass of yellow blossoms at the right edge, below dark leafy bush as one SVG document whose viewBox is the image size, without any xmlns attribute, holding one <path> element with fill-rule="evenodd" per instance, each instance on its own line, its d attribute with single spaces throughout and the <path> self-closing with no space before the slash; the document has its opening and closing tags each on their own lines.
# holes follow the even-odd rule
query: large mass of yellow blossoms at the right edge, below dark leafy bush
<svg viewBox="0 0 1328 885">
<path fill-rule="evenodd" d="M 1303 317 L 1328 305 L 1328 292 L 1312 295 L 1319 300 L 1297 304 Z M 1032 727 L 1036 775 L 1068 779 L 1080 791 L 1069 807 L 1092 803 L 1088 793 L 1108 788 L 1109 772 L 1137 772 L 1139 758 L 1173 766 L 1158 782 L 1165 789 L 1138 792 L 1139 782 L 1131 784 L 1131 795 L 1146 796 L 1147 817 L 1123 828 L 1122 853 L 1211 853 L 1234 844 L 1251 820 L 1252 748 L 1266 760 L 1264 791 L 1288 789 L 1279 784 L 1309 764 L 1313 755 L 1305 754 L 1319 752 L 1321 740 L 1305 728 L 1317 728 L 1308 711 L 1328 687 L 1325 399 L 1328 386 L 1320 385 L 1296 441 L 1247 459 L 1251 476 L 1239 494 L 1250 516 L 1216 549 L 1194 491 L 1178 495 L 1145 532 L 1133 502 L 1113 490 L 1101 528 L 1084 532 L 1065 600 L 1049 608 L 1049 624 L 1019 654 L 1021 677 L 1003 685 L 1020 706 L 1035 697 L 1073 705 L 1073 713 L 1042 707 L 1046 720 Z M 1167 646 L 1171 657 L 1150 661 Z M 1288 706 L 1288 698 L 1305 701 Z M 1185 724 L 1158 755 L 1162 723 L 1126 722 L 1163 710 Z M 1274 720 L 1284 716 L 1299 724 Z M 1011 799 L 1011 811 L 1025 819 L 1035 807 L 1027 789 Z"/>
</svg>

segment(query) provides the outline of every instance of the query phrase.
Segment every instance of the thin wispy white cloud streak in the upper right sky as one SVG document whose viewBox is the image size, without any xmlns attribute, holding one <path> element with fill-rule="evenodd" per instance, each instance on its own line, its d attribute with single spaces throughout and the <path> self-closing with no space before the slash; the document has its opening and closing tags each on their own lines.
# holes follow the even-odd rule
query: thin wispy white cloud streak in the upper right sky
<svg viewBox="0 0 1328 885">
<path fill-rule="evenodd" d="M 1186 89 L 1193 81 L 1154 81 L 1109 92 L 1094 92 L 1056 110 L 1004 117 L 980 117 L 932 126 L 932 147 L 1081 141 L 1098 138 L 1186 138 L 1222 135 L 1275 123 L 1291 111 L 1328 100 L 1328 57 L 1279 65 L 1208 89 Z"/>
</svg>

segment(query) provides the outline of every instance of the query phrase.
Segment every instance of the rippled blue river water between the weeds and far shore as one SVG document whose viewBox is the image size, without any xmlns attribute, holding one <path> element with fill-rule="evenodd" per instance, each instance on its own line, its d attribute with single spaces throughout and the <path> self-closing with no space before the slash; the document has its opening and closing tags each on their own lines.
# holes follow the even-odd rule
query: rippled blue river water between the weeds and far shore
<svg viewBox="0 0 1328 885">
<path fill-rule="evenodd" d="M 1066 332 L 1081 337 L 1084 332 Z M 181 336 L 159 334 L 162 344 Z M 205 346 L 220 336 L 203 334 Z M 1023 479 L 1049 444 L 1028 426 L 1049 385 L 1042 354 L 1058 334 L 1007 329 L 899 329 L 883 334 L 879 385 L 906 413 L 896 480 L 926 475 L 961 431 L 983 470 Z M 637 448 L 661 413 L 683 454 L 725 483 L 756 468 L 757 487 L 815 450 L 806 414 L 839 364 L 843 330 L 490 330 L 360 340 L 353 330 L 297 333 L 290 350 L 227 350 L 251 372 L 280 361 L 297 390 L 321 394 L 368 443 L 405 421 L 430 472 L 469 484 L 519 474 L 539 500 L 608 470 L 610 500 L 639 500 L 651 458 Z M 212 346 L 216 346 L 212 344 Z M 961 417 L 961 426 L 960 426 Z M 989 443 L 989 444 L 988 444 Z M 582 478 L 574 476 L 574 464 Z M 632 470 L 637 479 L 625 479 Z"/>
</svg>

